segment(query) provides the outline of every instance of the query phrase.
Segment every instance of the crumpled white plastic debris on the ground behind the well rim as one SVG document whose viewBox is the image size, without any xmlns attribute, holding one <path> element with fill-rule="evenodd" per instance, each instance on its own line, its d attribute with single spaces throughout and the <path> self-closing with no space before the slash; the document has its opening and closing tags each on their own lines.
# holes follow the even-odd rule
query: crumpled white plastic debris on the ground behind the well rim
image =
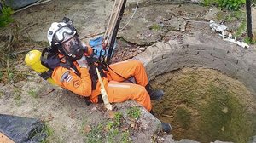
<svg viewBox="0 0 256 143">
<path fill-rule="evenodd" d="M 210 27 L 212 28 L 212 31 L 218 31 L 218 35 L 221 36 L 224 39 L 224 41 L 228 41 L 230 42 L 230 44 L 236 43 L 238 46 L 241 46 L 242 48 L 249 48 L 249 45 L 247 43 L 236 41 L 236 37 L 233 38 L 232 34 L 226 31 L 228 29 L 227 26 L 223 24 L 218 24 L 211 20 Z M 225 33 L 228 33 L 228 36 L 226 36 Z"/>
</svg>

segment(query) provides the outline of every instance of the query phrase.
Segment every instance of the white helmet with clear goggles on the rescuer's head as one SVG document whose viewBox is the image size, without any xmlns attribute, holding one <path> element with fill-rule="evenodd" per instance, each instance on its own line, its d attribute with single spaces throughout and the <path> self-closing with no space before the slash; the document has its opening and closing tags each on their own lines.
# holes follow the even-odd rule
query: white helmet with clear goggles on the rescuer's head
<svg viewBox="0 0 256 143">
<path fill-rule="evenodd" d="M 73 37 L 76 34 L 76 30 L 73 26 L 64 22 L 54 22 L 49 27 L 47 32 L 47 38 L 49 45 L 57 45 L 63 43 Z"/>
</svg>

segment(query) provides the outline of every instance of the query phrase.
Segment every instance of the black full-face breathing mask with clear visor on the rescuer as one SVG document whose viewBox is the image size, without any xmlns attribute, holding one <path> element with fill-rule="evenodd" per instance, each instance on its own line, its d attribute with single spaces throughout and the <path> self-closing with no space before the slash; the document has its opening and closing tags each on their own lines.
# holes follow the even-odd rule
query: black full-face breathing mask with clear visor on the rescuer
<svg viewBox="0 0 256 143">
<path fill-rule="evenodd" d="M 61 43 L 61 48 L 72 60 L 79 60 L 84 54 L 83 46 L 79 40 L 79 37 L 76 36 L 68 39 L 64 43 Z"/>
</svg>

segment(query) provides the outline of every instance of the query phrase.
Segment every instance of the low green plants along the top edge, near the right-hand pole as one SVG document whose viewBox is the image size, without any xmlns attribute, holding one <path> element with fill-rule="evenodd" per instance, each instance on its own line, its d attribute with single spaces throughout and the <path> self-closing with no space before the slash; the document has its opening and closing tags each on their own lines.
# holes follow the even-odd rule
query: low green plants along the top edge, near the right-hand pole
<svg viewBox="0 0 256 143">
<path fill-rule="evenodd" d="M 246 0 L 203 0 L 204 5 L 216 5 L 221 9 L 238 10 Z"/>
</svg>

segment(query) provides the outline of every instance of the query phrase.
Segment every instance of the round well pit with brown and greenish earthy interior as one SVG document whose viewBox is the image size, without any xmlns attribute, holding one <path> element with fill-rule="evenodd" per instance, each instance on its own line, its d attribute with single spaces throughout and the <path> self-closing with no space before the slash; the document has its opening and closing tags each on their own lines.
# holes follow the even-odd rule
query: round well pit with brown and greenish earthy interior
<svg viewBox="0 0 256 143">
<path fill-rule="evenodd" d="M 183 68 L 150 82 L 163 89 L 153 101 L 156 117 L 172 124 L 173 138 L 201 142 L 248 142 L 256 134 L 256 98 L 247 88 L 221 72 Z"/>
</svg>

